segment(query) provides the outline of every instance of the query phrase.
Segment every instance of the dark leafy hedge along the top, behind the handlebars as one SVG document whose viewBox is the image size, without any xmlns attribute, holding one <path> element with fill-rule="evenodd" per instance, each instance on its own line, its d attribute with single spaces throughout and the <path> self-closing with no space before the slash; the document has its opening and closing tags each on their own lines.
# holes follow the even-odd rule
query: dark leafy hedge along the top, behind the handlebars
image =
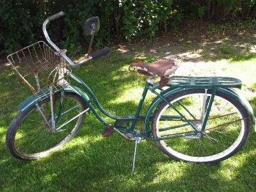
<svg viewBox="0 0 256 192">
<path fill-rule="evenodd" d="M 88 44 L 83 23 L 99 16 L 100 31 L 96 45 L 151 38 L 166 31 L 178 31 L 182 19 L 223 22 L 255 19 L 255 0 L 1 0 L 0 54 L 17 51 L 44 40 L 42 22 L 47 16 L 63 11 L 62 19 L 49 28 L 52 40 L 76 54 Z"/>
</svg>

